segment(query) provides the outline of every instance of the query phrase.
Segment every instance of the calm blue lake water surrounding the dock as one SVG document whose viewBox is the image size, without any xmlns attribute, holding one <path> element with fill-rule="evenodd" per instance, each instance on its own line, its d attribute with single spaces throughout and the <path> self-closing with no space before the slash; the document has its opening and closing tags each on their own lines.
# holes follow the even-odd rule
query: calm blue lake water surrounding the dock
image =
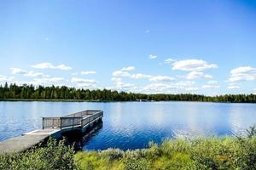
<svg viewBox="0 0 256 170">
<path fill-rule="evenodd" d="M 200 102 L 0 102 L 0 141 L 42 126 L 42 116 L 102 110 L 83 150 L 137 149 L 154 140 L 240 134 L 256 124 L 255 104 Z"/>
</svg>

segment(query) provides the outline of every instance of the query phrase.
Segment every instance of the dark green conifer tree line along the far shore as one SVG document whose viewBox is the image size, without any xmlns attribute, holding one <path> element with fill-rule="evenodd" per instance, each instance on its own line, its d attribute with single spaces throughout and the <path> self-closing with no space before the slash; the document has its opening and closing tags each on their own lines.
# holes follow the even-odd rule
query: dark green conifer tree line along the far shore
<svg viewBox="0 0 256 170">
<path fill-rule="evenodd" d="M 66 86 L 51 87 L 24 84 L 18 86 L 5 83 L 0 85 L 0 99 L 60 99 L 60 100 L 99 100 L 99 101 L 207 101 L 256 103 L 254 94 L 226 94 L 218 96 L 205 96 L 199 94 L 135 94 L 118 92 L 108 89 L 68 88 Z"/>
</svg>

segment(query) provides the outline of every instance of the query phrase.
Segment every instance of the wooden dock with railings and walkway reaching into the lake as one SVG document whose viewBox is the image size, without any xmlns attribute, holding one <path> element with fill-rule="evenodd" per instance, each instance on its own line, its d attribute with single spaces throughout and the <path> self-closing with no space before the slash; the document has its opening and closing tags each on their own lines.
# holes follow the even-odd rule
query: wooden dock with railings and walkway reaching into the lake
<svg viewBox="0 0 256 170">
<path fill-rule="evenodd" d="M 0 154 L 28 150 L 49 137 L 59 139 L 62 133 L 68 131 L 79 130 L 84 133 L 87 127 L 101 120 L 102 116 L 103 111 L 80 111 L 67 116 L 43 117 L 42 129 L 0 142 Z"/>
</svg>

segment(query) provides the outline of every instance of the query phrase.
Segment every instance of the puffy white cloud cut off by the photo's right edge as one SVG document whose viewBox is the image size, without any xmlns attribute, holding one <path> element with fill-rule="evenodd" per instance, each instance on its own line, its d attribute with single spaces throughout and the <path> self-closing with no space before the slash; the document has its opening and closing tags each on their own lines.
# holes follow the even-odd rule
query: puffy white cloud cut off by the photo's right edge
<svg viewBox="0 0 256 170">
<path fill-rule="evenodd" d="M 256 80 L 256 68 L 241 66 L 230 71 L 228 82 L 254 81 Z"/>
</svg>

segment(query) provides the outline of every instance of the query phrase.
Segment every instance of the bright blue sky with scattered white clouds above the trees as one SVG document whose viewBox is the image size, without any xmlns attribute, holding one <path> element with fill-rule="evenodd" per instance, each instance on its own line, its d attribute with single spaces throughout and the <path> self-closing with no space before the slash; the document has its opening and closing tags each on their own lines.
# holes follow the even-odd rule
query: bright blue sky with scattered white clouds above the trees
<svg viewBox="0 0 256 170">
<path fill-rule="evenodd" d="M 256 94 L 256 1 L 3 0 L 5 82 Z"/>
</svg>

